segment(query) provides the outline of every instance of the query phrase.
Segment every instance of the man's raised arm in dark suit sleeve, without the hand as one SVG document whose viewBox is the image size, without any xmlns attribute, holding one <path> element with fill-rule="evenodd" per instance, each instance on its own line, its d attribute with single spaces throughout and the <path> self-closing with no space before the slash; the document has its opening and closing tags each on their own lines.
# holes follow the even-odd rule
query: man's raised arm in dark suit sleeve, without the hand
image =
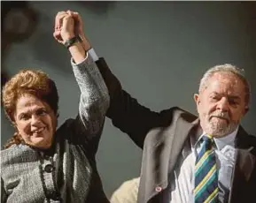
<svg viewBox="0 0 256 203">
<path fill-rule="evenodd" d="M 112 74 L 104 58 L 99 58 L 97 67 L 110 94 L 110 107 L 106 116 L 120 131 L 128 133 L 138 147 L 143 148 L 144 139 L 151 129 L 171 123 L 174 108 L 155 112 L 144 107 L 122 89 L 119 79 Z"/>
</svg>

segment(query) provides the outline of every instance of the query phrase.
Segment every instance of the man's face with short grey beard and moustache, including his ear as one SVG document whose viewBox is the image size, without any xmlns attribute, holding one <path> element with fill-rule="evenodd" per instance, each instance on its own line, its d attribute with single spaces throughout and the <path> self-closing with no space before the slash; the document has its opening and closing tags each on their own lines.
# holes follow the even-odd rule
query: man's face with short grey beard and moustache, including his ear
<svg viewBox="0 0 256 203">
<path fill-rule="evenodd" d="M 214 137 L 234 132 L 247 112 L 244 83 L 231 72 L 213 73 L 194 98 L 201 127 Z"/>
</svg>

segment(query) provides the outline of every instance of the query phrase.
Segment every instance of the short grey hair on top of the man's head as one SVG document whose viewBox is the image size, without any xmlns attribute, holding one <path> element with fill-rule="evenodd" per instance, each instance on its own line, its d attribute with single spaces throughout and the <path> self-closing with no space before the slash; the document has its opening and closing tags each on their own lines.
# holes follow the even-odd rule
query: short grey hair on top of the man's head
<svg viewBox="0 0 256 203">
<path fill-rule="evenodd" d="M 237 66 L 232 64 L 215 65 L 212 68 L 210 68 L 208 71 L 206 71 L 203 78 L 200 80 L 199 93 L 206 88 L 207 80 L 210 79 L 215 72 L 220 72 L 220 71 L 231 72 L 237 75 L 239 79 L 242 79 L 245 87 L 245 90 L 244 90 L 245 102 L 246 102 L 246 105 L 249 106 L 250 99 L 251 99 L 251 87 L 250 87 L 249 81 L 245 78 L 245 71 L 244 69 L 238 68 Z"/>
</svg>

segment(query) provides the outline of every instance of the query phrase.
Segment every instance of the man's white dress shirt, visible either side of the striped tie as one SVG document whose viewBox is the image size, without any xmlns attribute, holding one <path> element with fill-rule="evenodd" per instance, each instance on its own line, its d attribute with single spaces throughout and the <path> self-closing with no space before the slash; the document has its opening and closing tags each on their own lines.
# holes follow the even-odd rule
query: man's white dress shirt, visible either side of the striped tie
<svg viewBox="0 0 256 203">
<path fill-rule="evenodd" d="M 231 184 L 231 175 L 235 165 L 236 149 L 235 138 L 236 131 L 230 133 L 223 138 L 214 138 L 215 154 L 217 168 L 219 169 L 219 199 L 229 199 L 229 191 Z M 190 138 L 190 154 L 181 158 L 177 162 L 174 170 L 172 182 L 170 183 L 170 203 L 193 203 L 194 202 L 194 182 L 195 182 L 195 162 L 198 152 L 202 147 L 203 133 L 198 140 Z M 222 202 L 223 200 L 221 200 Z"/>
</svg>

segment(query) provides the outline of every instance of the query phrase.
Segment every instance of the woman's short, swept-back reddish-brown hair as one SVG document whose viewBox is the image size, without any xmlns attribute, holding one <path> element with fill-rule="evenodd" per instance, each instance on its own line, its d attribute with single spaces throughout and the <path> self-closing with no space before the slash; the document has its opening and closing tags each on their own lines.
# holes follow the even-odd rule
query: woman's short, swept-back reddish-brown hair
<svg viewBox="0 0 256 203">
<path fill-rule="evenodd" d="M 16 103 L 20 96 L 32 94 L 46 102 L 58 114 L 58 90 L 55 82 L 43 71 L 21 70 L 4 85 L 2 95 L 4 111 L 13 122 Z"/>
</svg>

